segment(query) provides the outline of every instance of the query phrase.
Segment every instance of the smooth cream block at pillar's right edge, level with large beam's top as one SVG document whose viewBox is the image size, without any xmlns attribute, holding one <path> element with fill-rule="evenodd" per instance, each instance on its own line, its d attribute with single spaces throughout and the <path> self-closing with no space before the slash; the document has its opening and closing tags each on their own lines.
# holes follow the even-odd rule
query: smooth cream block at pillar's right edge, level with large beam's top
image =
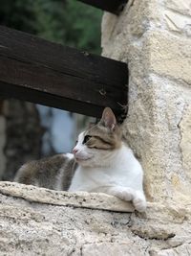
<svg viewBox="0 0 191 256">
<path fill-rule="evenodd" d="M 191 84 L 191 41 L 169 35 L 152 32 L 146 40 L 150 52 L 150 72 Z"/>
</svg>

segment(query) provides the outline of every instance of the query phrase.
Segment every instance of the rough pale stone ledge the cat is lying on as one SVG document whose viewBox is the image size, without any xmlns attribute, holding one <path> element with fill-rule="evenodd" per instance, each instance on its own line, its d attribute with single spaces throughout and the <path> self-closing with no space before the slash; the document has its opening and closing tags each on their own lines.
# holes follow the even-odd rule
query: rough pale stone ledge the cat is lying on
<svg viewBox="0 0 191 256">
<path fill-rule="evenodd" d="M 108 201 L 104 194 L 63 193 L 0 182 L 0 255 L 191 253 L 189 204 L 148 203 L 147 211 L 139 214 L 129 212 L 129 206 L 127 213 L 111 211 L 112 200 L 118 211 L 121 208 L 121 201 L 114 197 L 105 205 L 107 210 L 101 210 L 100 198 Z M 83 200 L 87 205 L 80 203 Z"/>
</svg>

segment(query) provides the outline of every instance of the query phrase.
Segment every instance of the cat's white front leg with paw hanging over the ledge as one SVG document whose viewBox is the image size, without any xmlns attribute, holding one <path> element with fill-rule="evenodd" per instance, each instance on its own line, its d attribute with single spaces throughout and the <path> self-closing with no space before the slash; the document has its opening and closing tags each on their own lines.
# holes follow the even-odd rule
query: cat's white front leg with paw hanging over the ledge
<svg viewBox="0 0 191 256">
<path fill-rule="evenodd" d="M 146 210 L 146 199 L 141 191 L 129 187 L 116 186 L 109 188 L 106 193 L 122 200 L 132 201 L 138 212 L 144 212 Z"/>
</svg>

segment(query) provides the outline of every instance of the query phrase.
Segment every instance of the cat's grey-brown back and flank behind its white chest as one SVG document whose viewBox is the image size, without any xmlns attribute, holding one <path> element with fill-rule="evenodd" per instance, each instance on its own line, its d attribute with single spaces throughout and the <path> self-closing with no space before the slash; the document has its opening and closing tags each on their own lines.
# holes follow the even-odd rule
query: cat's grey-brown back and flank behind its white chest
<svg viewBox="0 0 191 256">
<path fill-rule="evenodd" d="M 56 154 L 21 166 L 14 181 L 53 190 L 68 190 L 77 164 L 72 153 Z"/>
</svg>

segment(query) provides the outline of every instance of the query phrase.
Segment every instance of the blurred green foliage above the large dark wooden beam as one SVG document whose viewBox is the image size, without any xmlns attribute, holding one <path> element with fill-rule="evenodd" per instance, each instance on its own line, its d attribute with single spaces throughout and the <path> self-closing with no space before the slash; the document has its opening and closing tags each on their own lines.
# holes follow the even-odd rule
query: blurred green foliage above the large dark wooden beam
<svg viewBox="0 0 191 256">
<path fill-rule="evenodd" d="M 1 0 L 0 7 L 3 25 L 96 54 L 101 15 L 75 0 Z"/>
</svg>

